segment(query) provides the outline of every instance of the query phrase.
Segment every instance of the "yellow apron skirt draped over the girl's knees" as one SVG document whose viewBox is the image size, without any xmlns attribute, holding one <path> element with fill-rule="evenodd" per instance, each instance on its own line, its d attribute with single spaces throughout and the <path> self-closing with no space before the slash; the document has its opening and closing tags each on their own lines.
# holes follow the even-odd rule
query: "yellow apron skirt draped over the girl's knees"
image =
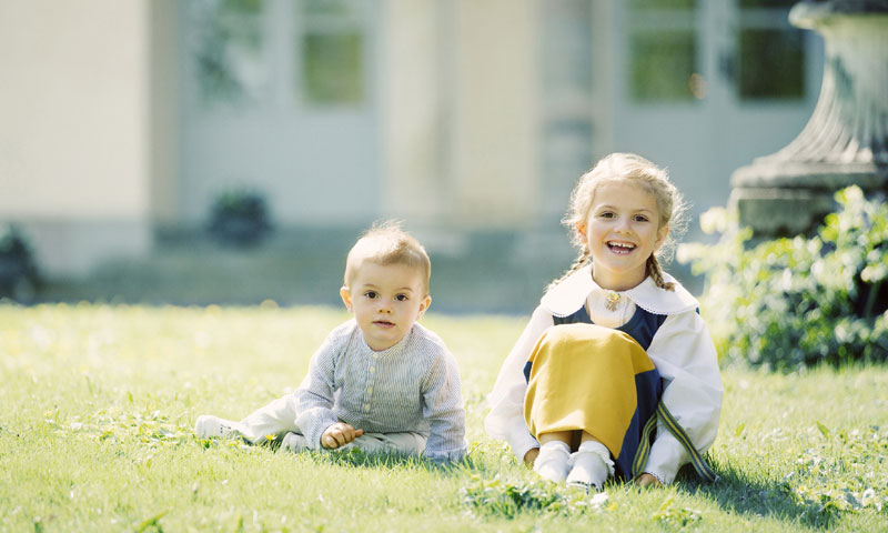
<svg viewBox="0 0 888 533">
<path fill-rule="evenodd" d="M 639 414 L 646 416 L 638 412 L 638 399 L 653 393 L 656 408 L 659 391 L 643 392 L 636 385 L 648 388 L 643 383 L 656 380 L 652 385 L 659 389 L 659 374 L 627 333 L 584 323 L 555 325 L 539 338 L 527 365 L 524 419 L 531 434 L 539 439 L 543 433 L 582 430 L 614 457 L 624 451 L 624 441 L 637 447 L 638 438 L 627 432 L 637 431 Z"/>
</svg>

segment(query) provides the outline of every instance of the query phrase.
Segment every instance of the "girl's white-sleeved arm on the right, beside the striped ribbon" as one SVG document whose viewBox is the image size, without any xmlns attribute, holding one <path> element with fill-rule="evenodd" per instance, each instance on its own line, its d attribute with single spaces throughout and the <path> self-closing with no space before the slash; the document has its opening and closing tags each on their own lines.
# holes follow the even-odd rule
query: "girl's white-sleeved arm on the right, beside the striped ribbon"
<svg viewBox="0 0 888 533">
<path fill-rule="evenodd" d="M 654 336 L 648 355 L 664 379 L 663 401 L 703 454 L 712 446 L 722 413 L 722 376 L 718 355 L 699 314 L 689 311 L 669 316 Z M 645 472 L 672 483 L 689 460 L 684 446 L 657 424 Z"/>
</svg>

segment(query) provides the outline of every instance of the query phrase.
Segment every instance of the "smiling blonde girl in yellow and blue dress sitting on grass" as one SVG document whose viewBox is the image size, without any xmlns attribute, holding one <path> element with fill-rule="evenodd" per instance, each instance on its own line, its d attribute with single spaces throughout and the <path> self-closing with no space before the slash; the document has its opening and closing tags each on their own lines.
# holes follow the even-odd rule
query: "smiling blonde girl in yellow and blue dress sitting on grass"
<svg viewBox="0 0 888 533">
<path fill-rule="evenodd" d="M 666 172 L 614 153 L 584 174 L 564 223 L 579 249 L 503 363 L 485 428 L 543 479 L 670 483 L 712 445 L 718 360 L 699 304 L 657 254 L 685 211 Z"/>
</svg>

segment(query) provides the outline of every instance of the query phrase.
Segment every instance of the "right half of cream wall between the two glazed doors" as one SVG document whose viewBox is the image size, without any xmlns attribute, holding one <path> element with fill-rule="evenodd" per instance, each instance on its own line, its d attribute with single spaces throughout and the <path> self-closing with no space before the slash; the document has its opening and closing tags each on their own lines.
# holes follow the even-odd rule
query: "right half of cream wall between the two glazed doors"
<svg viewBox="0 0 888 533">
<path fill-rule="evenodd" d="M 535 3 L 456 4 L 454 213 L 473 229 L 532 225 L 538 209 Z"/>
</svg>

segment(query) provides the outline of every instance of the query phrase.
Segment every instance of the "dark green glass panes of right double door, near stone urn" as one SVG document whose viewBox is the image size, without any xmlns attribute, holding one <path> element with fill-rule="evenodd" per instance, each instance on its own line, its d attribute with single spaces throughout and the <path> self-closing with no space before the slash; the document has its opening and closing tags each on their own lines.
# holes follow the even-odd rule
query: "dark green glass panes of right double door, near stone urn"
<svg viewBox="0 0 888 533">
<path fill-rule="evenodd" d="M 628 0 L 629 97 L 639 103 L 703 99 L 708 73 L 740 101 L 804 98 L 805 36 L 789 24 L 794 3 Z"/>
</svg>

